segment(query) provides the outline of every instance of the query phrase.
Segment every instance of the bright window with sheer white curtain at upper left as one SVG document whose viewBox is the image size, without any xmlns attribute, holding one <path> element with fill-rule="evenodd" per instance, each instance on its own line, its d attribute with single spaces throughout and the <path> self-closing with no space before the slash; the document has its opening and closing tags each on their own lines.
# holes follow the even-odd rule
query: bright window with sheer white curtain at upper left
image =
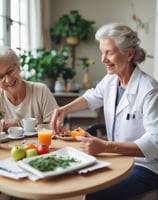
<svg viewBox="0 0 158 200">
<path fill-rule="evenodd" d="M 0 45 L 25 50 L 40 47 L 39 16 L 39 0 L 0 0 Z"/>
</svg>

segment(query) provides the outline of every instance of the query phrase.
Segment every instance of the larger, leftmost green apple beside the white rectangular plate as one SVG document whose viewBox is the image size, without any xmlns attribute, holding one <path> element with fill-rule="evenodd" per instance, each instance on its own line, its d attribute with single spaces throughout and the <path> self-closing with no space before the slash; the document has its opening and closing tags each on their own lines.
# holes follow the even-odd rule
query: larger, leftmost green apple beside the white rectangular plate
<svg viewBox="0 0 158 200">
<path fill-rule="evenodd" d="M 21 160 L 25 158 L 26 151 L 23 146 L 14 146 L 11 149 L 10 155 L 14 160 Z"/>
</svg>

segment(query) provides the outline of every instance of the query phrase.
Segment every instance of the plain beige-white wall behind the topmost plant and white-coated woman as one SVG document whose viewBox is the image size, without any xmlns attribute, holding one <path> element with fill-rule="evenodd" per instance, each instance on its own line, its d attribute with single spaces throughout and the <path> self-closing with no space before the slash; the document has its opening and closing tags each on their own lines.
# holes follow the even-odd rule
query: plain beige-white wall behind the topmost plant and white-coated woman
<svg viewBox="0 0 158 200">
<path fill-rule="evenodd" d="M 50 13 L 53 24 L 63 14 L 70 10 L 78 10 L 82 16 L 88 20 L 95 20 L 95 30 L 101 25 L 109 22 L 121 22 L 136 30 L 136 23 L 132 19 L 132 0 L 51 0 Z M 142 22 L 148 22 L 148 31 L 139 29 L 138 34 L 142 40 L 142 47 L 147 54 L 154 55 L 155 51 L 155 16 L 156 0 L 134 0 L 136 15 Z M 52 43 L 52 48 L 55 48 Z M 99 80 L 106 73 L 104 66 L 100 62 L 100 52 L 98 43 L 92 41 L 83 43 L 77 47 L 77 57 L 87 56 L 95 60 L 95 66 L 91 67 L 90 74 L 92 81 Z M 154 59 L 148 58 L 143 64 L 143 69 L 154 75 Z M 81 66 L 76 66 L 76 80 L 81 81 L 83 70 Z"/>
</svg>

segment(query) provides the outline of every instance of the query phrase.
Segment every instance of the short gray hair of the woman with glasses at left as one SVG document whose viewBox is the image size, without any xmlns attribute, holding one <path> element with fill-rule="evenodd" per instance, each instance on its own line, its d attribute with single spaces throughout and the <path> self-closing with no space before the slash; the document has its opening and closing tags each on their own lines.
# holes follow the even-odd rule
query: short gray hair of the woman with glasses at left
<svg viewBox="0 0 158 200">
<path fill-rule="evenodd" d="M 9 60 L 14 65 L 20 66 L 20 58 L 15 51 L 8 46 L 0 46 L 0 60 Z"/>
</svg>

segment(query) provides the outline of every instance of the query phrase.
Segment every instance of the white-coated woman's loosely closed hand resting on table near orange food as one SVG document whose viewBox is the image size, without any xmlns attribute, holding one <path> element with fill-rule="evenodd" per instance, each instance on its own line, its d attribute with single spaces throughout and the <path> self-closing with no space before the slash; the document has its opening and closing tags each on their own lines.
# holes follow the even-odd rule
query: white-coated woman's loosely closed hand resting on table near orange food
<svg viewBox="0 0 158 200">
<path fill-rule="evenodd" d="M 96 138 L 86 132 L 86 137 L 77 136 L 76 139 L 80 141 L 80 149 L 85 153 L 97 155 L 99 153 L 108 152 L 108 142 Z"/>
</svg>

